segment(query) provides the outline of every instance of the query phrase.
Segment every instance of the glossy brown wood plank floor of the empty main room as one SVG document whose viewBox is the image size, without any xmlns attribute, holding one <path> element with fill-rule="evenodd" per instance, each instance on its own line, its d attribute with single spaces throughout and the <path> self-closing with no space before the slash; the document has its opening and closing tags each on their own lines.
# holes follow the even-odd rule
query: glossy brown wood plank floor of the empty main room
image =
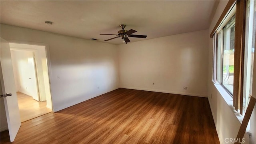
<svg viewBox="0 0 256 144">
<path fill-rule="evenodd" d="M 7 135 L 7 136 L 6 136 Z M 1 133 L 1 144 L 8 144 Z M 118 89 L 22 123 L 13 144 L 219 144 L 207 98 Z"/>
</svg>

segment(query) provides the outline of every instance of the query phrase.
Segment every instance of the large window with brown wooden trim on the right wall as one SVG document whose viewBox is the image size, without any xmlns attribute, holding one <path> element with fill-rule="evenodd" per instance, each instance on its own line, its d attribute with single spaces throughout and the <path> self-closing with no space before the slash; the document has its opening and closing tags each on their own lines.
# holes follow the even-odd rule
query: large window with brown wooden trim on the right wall
<svg viewBox="0 0 256 144">
<path fill-rule="evenodd" d="M 210 36 L 214 38 L 213 82 L 222 85 L 243 114 L 252 95 L 256 2 L 230 0 Z"/>
</svg>

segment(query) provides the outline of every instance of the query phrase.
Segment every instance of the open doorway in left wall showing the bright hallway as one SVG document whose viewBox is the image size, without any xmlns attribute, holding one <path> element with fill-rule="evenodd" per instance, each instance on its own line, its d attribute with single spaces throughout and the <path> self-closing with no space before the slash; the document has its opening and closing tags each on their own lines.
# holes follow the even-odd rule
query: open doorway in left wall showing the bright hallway
<svg viewBox="0 0 256 144">
<path fill-rule="evenodd" d="M 21 122 L 52 112 L 45 46 L 10 43 Z"/>
</svg>

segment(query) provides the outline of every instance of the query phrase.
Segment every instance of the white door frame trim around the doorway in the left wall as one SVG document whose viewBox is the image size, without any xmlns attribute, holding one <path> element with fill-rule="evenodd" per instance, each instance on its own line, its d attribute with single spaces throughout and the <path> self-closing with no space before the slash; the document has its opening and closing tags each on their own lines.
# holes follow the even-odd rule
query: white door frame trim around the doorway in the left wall
<svg viewBox="0 0 256 144">
<path fill-rule="evenodd" d="M 9 43 L 16 43 L 16 44 L 30 44 L 30 45 L 37 45 L 37 46 L 44 46 L 46 50 L 46 61 L 47 61 L 47 69 L 48 69 L 48 76 L 49 76 L 49 86 L 50 86 L 50 94 L 51 94 L 51 103 L 52 103 L 52 112 L 56 112 L 54 109 L 54 104 L 52 102 L 52 86 L 51 86 L 51 80 L 52 80 L 52 71 L 51 71 L 51 60 L 50 60 L 50 49 L 49 44 L 46 43 L 40 43 L 40 42 L 28 42 L 28 41 L 19 41 L 19 40 L 9 40 L 6 39 Z"/>
</svg>

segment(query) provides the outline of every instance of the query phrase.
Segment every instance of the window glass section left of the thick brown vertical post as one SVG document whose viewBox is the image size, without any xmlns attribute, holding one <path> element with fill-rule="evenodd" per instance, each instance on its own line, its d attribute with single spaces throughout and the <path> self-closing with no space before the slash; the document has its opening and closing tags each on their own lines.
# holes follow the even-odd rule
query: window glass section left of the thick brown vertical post
<svg viewBox="0 0 256 144">
<path fill-rule="evenodd" d="M 235 21 L 234 14 L 217 34 L 216 80 L 231 95 L 234 88 Z"/>
</svg>

